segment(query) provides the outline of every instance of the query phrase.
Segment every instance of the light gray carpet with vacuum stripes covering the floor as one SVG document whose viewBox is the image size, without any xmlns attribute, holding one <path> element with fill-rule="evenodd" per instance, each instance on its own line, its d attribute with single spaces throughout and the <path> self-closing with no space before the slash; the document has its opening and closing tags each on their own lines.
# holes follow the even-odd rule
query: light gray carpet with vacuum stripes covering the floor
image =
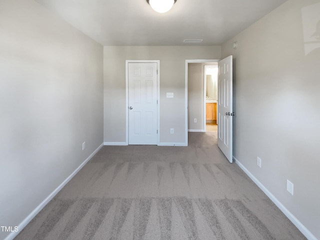
<svg viewBox="0 0 320 240">
<path fill-rule="evenodd" d="M 216 145 L 103 146 L 19 233 L 26 239 L 305 239 Z"/>
</svg>

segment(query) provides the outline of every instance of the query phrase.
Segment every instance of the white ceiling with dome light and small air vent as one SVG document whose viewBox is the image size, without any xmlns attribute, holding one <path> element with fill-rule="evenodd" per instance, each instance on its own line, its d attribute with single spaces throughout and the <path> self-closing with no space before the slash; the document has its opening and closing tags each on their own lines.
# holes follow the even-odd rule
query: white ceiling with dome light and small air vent
<svg viewBox="0 0 320 240">
<path fill-rule="evenodd" d="M 102 45 L 220 45 L 286 0 L 36 0 Z M 183 39 L 203 39 L 183 43 Z"/>
</svg>

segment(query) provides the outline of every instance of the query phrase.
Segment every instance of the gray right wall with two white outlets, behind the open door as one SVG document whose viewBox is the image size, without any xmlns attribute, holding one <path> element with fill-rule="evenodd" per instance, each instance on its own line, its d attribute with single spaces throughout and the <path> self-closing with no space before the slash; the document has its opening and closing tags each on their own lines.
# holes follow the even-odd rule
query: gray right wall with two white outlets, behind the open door
<svg viewBox="0 0 320 240">
<path fill-rule="evenodd" d="M 319 0 L 288 0 L 222 45 L 236 59 L 234 156 L 318 239 L 319 12 Z"/>
</svg>

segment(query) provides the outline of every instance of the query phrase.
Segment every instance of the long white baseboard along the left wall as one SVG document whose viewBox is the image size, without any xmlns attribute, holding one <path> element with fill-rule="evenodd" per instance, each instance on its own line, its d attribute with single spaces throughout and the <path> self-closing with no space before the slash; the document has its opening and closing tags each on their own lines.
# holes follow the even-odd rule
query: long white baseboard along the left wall
<svg viewBox="0 0 320 240">
<path fill-rule="evenodd" d="M 33 217 L 68 183 L 69 180 L 92 158 L 92 156 L 100 150 L 103 144 L 99 145 L 67 178 L 65 178 L 62 183 L 55 188 L 37 207 L 34 208 L 31 213 L 24 218 L 21 223 L 17 226 L 19 231 L 12 231 L 9 235 L 7 235 L 4 240 L 12 240 L 16 235 L 32 220 Z"/>
</svg>

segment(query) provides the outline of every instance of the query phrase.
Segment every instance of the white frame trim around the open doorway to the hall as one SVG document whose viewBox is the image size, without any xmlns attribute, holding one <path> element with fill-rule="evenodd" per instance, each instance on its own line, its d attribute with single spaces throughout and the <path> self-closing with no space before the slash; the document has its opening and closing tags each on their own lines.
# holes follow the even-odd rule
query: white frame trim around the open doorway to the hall
<svg viewBox="0 0 320 240">
<path fill-rule="evenodd" d="M 185 80 L 184 80 L 184 85 L 185 85 L 185 92 L 184 92 L 184 109 L 185 109 L 185 143 L 186 146 L 188 145 L 188 63 L 208 63 L 208 62 L 218 62 L 220 59 L 186 59 L 185 60 Z M 204 81 L 204 79 L 203 79 Z M 204 84 L 204 83 L 203 83 Z M 203 85 L 203 88 L 205 86 Z M 204 89 L 203 89 L 204 92 Z M 203 98 L 204 101 L 204 98 Z M 205 105 L 203 107 L 205 110 Z M 205 121 L 205 119 L 204 119 Z M 204 126 L 205 127 L 205 126 Z M 205 128 L 204 128 L 205 129 Z"/>
</svg>

